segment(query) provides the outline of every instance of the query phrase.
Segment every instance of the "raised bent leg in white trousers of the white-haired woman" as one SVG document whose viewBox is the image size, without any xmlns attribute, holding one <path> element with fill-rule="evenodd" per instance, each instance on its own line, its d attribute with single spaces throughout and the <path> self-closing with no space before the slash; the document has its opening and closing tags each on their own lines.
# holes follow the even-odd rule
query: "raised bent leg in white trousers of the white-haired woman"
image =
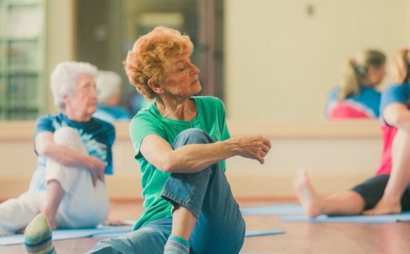
<svg viewBox="0 0 410 254">
<path fill-rule="evenodd" d="M 54 142 L 83 154 L 88 153 L 76 130 L 70 127 L 59 128 L 54 133 Z M 57 213 L 57 227 L 93 227 L 107 217 L 109 202 L 105 184 L 98 181 L 93 187 L 91 175 L 86 168 L 64 166 L 49 159 L 46 181 L 48 198 L 44 213 Z"/>
</svg>

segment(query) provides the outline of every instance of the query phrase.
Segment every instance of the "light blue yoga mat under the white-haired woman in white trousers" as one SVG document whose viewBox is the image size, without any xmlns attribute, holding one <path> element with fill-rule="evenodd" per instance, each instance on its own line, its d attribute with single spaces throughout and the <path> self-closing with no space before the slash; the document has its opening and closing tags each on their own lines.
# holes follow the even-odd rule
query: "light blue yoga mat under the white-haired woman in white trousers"
<svg viewBox="0 0 410 254">
<path fill-rule="evenodd" d="M 122 235 L 132 230 L 132 226 L 101 226 L 95 229 L 57 229 L 53 231 L 53 241 L 73 238 L 83 238 L 88 236 L 100 237 L 108 233 Z M 24 243 L 24 234 L 14 234 L 11 236 L 1 236 L 0 246 L 10 246 Z"/>
</svg>

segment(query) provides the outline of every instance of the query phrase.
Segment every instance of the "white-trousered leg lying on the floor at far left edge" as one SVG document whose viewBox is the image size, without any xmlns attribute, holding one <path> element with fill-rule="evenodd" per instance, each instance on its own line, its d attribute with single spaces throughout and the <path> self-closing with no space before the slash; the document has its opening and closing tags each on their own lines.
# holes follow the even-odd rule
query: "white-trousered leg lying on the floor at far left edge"
<svg viewBox="0 0 410 254">
<path fill-rule="evenodd" d="M 45 192 L 25 192 L 0 204 L 0 236 L 23 229 L 40 212 L 45 203 Z"/>
</svg>

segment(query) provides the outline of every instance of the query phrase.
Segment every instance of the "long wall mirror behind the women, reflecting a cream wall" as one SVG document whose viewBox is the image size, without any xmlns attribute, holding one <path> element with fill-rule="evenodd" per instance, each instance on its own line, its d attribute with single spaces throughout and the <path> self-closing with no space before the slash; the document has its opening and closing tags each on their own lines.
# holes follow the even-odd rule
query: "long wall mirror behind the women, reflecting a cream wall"
<svg viewBox="0 0 410 254">
<path fill-rule="evenodd" d="M 67 59 L 120 74 L 122 105 L 136 112 L 139 101 L 131 103 L 136 91 L 122 62 L 135 40 L 156 25 L 191 37 L 201 94 L 221 98 L 234 120 L 324 120 L 328 93 L 339 85 L 346 59 L 367 48 L 391 59 L 410 45 L 408 0 L 66 0 L 64 15 L 54 1 L 13 3 L 0 1 L 1 120 L 55 112 L 47 95 L 49 72 Z M 40 13 L 32 22 L 40 32 L 9 33 L 13 25 L 31 27 L 24 25 L 27 12 Z M 18 22 L 11 25 L 6 17 Z M 22 62 L 27 68 L 13 70 Z M 380 90 L 389 82 L 387 69 Z"/>
</svg>

